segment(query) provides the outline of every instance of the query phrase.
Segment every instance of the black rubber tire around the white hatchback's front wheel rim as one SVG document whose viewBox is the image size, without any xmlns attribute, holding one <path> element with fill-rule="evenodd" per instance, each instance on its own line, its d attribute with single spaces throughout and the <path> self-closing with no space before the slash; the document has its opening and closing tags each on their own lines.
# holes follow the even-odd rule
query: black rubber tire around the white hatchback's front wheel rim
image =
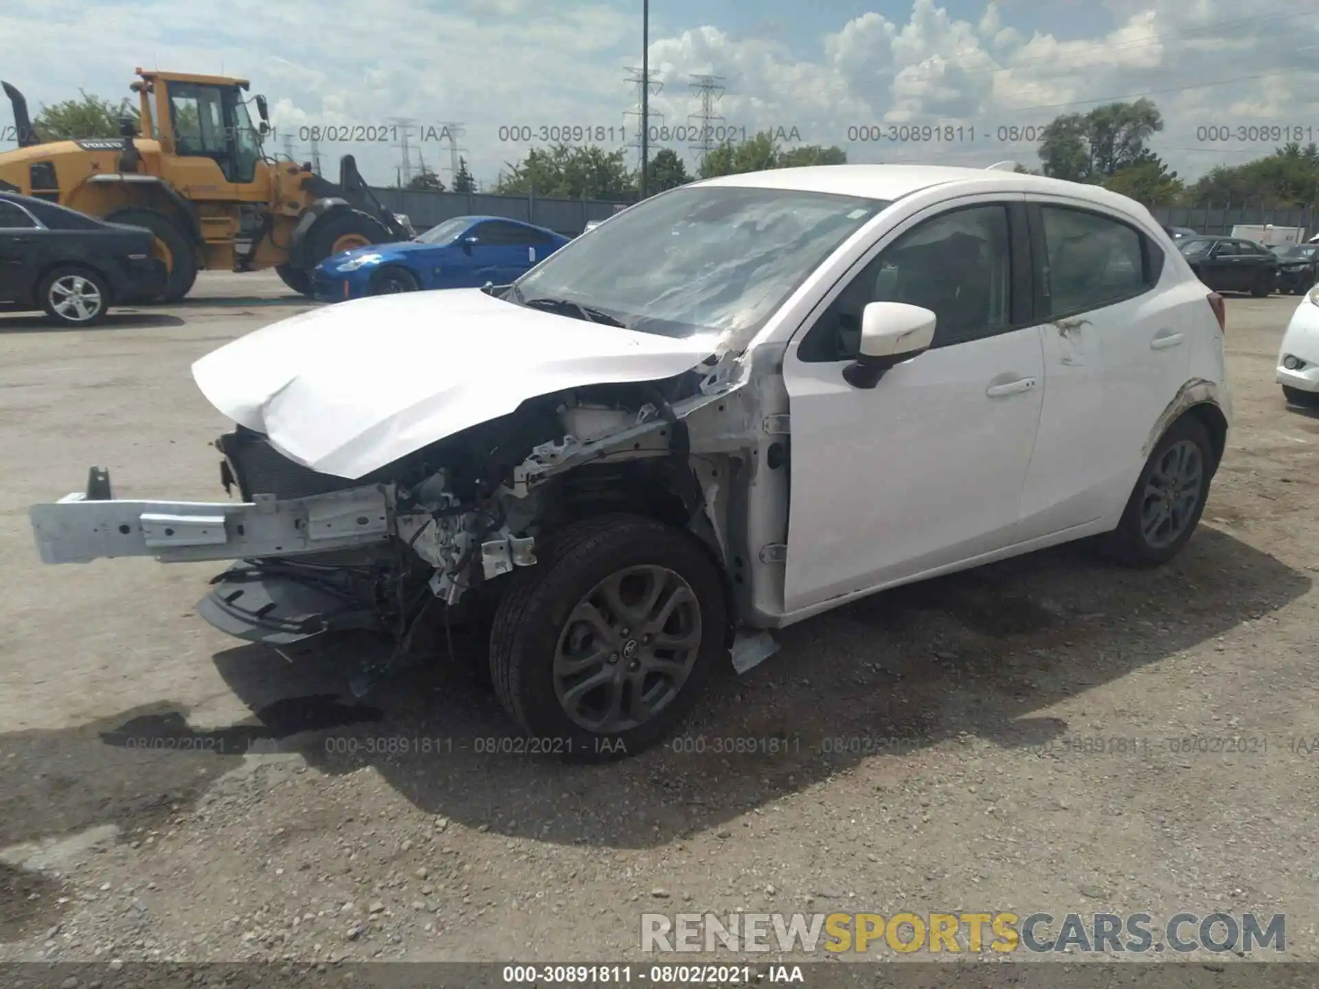
<svg viewBox="0 0 1319 989">
<path fill-rule="evenodd" d="M 543 740 L 541 750 L 571 762 L 605 762 L 654 745 L 691 709 L 724 650 L 727 603 L 714 562 L 686 533 L 620 514 L 567 526 L 538 547 L 537 556 L 536 566 L 514 574 L 491 630 L 491 679 L 504 709 L 526 736 Z M 624 731 L 590 731 L 559 700 L 554 658 L 576 628 L 568 617 L 579 603 L 612 575 L 645 566 L 666 570 L 691 592 L 686 607 L 689 614 L 699 613 L 700 625 L 690 671 L 648 720 Z M 637 645 L 636 638 L 628 641 L 629 647 Z M 620 650 L 624 658 L 633 654 L 629 647 Z"/>
</svg>

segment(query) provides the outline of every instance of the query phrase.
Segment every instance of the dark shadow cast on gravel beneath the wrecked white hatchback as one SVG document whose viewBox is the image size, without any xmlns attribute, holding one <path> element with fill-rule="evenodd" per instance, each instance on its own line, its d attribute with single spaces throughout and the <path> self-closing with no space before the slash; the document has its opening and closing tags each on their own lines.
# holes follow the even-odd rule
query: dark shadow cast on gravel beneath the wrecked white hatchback
<svg viewBox="0 0 1319 989">
<path fill-rule="evenodd" d="M 377 688 L 369 703 L 380 720 L 274 748 L 330 774 L 372 766 L 417 807 L 471 827 L 649 847 L 719 827 L 872 757 L 901 774 L 910 753 L 968 736 L 1009 749 L 1039 745 L 1074 727 L 1035 712 L 1260 618 L 1310 585 L 1208 527 L 1173 564 L 1149 571 L 1067 546 L 786 629 L 777 655 L 745 678 L 715 676 L 675 737 L 623 762 L 571 766 L 529 752 L 536 746 L 512 732 L 493 696 L 443 663 Z M 477 649 L 458 645 L 467 662 Z M 289 663 L 243 646 L 216 663 L 253 709 L 330 692 L 347 675 L 332 650 Z"/>
</svg>

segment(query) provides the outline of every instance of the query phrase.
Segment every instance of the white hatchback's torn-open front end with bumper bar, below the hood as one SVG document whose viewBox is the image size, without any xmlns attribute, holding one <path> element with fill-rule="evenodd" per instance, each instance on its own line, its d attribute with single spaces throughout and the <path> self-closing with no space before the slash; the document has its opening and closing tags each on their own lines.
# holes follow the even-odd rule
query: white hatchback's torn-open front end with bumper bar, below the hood
<svg viewBox="0 0 1319 989">
<path fill-rule="evenodd" d="M 207 622 L 276 647 L 380 633 L 389 655 L 375 682 L 427 653 L 437 622 L 488 616 L 500 579 L 534 566 L 538 541 L 580 518 L 642 513 L 694 531 L 720 564 L 749 555 L 727 545 L 723 479 L 754 458 L 760 422 L 752 400 L 739 401 L 737 367 L 725 357 L 658 382 L 528 400 L 356 480 L 303 467 L 239 426 L 216 447 L 240 501 L 119 501 L 96 475 L 87 492 L 33 506 L 32 524 L 46 563 L 237 560 L 198 605 Z M 689 419 L 700 423 L 699 456 Z"/>
</svg>

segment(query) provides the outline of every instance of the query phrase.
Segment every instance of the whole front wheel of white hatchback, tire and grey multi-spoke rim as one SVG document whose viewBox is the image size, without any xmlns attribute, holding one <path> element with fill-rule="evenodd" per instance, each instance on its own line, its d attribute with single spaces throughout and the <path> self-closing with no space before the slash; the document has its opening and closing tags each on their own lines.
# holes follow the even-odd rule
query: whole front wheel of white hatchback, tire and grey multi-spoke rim
<svg viewBox="0 0 1319 989">
<path fill-rule="evenodd" d="M 491 633 L 491 679 L 539 750 L 574 762 L 632 756 L 690 711 L 724 649 L 710 555 L 636 516 L 579 522 L 514 575 Z"/>
</svg>

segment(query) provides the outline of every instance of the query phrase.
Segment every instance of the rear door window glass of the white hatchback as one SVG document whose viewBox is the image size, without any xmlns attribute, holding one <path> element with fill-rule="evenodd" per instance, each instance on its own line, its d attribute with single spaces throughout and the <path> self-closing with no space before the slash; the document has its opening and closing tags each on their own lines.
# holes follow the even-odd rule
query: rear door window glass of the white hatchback
<svg viewBox="0 0 1319 989">
<path fill-rule="evenodd" d="M 1053 316 L 1101 309 L 1158 282 L 1163 253 L 1134 227 L 1088 212 L 1041 206 Z"/>
</svg>

